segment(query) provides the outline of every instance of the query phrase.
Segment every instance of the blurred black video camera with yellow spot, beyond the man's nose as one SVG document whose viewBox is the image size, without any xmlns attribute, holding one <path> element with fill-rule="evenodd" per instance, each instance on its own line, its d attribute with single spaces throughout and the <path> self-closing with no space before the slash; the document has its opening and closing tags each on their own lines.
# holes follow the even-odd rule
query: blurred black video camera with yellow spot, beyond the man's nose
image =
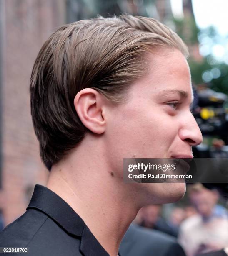
<svg viewBox="0 0 228 256">
<path fill-rule="evenodd" d="M 193 90 L 193 93 L 192 113 L 203 136 L 220 137 L 213 138 L 212 146 L 201 144 L 194 147 L 193 155 L 195 158 L 215 158 L 222 162 L 222 158 L 228 158 L 228 96 L 215 92 L 204 84 Z M 222 169 L 220 171 L 223 172 Z M 227 183 L 203 185 L 208 189 L 218 189 L 228 199 Z"/>
</svg>

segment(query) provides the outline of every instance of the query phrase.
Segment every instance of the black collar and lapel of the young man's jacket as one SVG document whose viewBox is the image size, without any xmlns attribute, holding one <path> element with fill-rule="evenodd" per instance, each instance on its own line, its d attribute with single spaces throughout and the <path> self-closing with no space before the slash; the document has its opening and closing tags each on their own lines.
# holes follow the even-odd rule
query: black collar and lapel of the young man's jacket
<svg viewBox="0 0 228 256">
<path fill-rule="evenodd" d="M 39 210 L 72 236 L 81 238 L 80 251 L 85 256 L 108 256 L 109 254 L 93 236 L 80 216 L 61 197 L 42 185 L 35 185 L 33 196 L 27 207 Z"/>
</svg>

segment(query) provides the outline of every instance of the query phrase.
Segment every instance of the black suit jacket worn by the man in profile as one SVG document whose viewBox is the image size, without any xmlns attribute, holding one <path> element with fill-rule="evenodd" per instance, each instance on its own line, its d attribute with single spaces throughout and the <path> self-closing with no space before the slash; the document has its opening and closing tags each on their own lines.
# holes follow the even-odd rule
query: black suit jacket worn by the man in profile
<svg viewBox="0 0 228 256">
<path fill-rule="evenodd" d="M 109 255 L 78 214 L 41 185 L 26 212 L 0 232 L 0 247 L 26 247 L 31 256 Z"/>
</svg>

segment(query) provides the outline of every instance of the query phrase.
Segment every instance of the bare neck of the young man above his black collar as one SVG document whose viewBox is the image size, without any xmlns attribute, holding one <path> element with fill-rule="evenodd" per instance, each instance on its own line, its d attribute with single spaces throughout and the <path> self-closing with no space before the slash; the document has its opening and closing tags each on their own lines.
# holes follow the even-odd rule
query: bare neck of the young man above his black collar
<svg viewBox="0 0 228 256">
<path fill-rule="evenodd" d="M 110 166 L 97 155 L 87 152 L 68 157 L 52 167 L 47 187 L 65 200 L 103 248 L 116 256 L 138 207 L 133 203 L 136 195 L 126 191 L 129 184 L 107 170 Z"/>
</svg>

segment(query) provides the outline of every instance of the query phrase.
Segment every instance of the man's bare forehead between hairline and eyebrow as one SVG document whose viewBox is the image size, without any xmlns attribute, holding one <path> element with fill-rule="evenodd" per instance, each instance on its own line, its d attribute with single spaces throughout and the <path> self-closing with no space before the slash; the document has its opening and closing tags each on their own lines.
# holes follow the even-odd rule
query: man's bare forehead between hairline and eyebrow
<svg viewBox="0 0 228 256">
<path fill-rule="evenodd" d="M 170 90 L 192 94 L 191 77 L 188 62 L 176 49 L 160 49 L 145 54 L 147 68 L 140 80 L 139 90 L 162 92 Z M 139 81 L 138 81 L 139 82 Z M 136 82 L 137 83 L 137 82 Z"/>
</svg>

